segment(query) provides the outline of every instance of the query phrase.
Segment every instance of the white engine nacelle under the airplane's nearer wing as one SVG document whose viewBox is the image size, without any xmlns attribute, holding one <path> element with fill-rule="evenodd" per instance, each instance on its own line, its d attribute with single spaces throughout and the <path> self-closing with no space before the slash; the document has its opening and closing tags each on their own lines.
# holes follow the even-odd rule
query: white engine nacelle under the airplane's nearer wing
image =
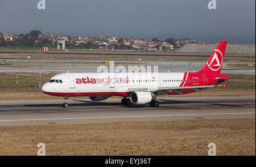
<svg viewBox="0 0 256 167">
<path fill-rule="evenodd" d="M 133 92 L 130 97 L 134 104 L 147 104 L 152 100 L 150 92 Z"/>
</svg>

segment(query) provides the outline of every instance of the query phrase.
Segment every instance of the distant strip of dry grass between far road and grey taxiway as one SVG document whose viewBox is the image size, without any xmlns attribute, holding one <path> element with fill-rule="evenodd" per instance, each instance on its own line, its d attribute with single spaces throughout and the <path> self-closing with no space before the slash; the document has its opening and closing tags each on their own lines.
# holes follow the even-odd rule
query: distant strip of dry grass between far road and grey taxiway
<svg viewBox="0 0 256 167">
<path fill-rule="evenodd" d="M 108 53 L 107 54 L 76 54 L 76 52 L 71 52 L 72 54 L 44 54 L 42 53 L 0 53 L 1 57 L 15 57 L 15 58 L 56 58 L 56 59 L 82 59 L 82 60 L 98 60 L 98 61 L 192 61 L 192 62 L 206 62 L 211 53 L 162 53 L 162 52 L 118 52 L 121 55 L 111 55 L 112 52 L 89 52 L 86 53 Z M 116 53 L 116 52 L 114 52 Z M 127 54 L 145 54 L 145 55 L 127 55 Z M 157 54 L 157 55 L 147 55 L 147 54 Z M 163 56 L 162 54 L 167 54 Z M 168 56 L 170 55 L 170 56 Z M 171 56 L 178 55 L 178 56 Z M 187 57 L 185 55 L 195 55 L 195 57 Z M 197 57 L 196 55 L 207 55 L 209 57 Z M 229 54 L 226 54 L 229 55 Z M 231 54 L 236 55 L 236 54 Z M 237 55 L 246 55 L 249 58 L 234 58 L 234 57 L 225 57 L 225 62 L 255 62 L 255 54 L 237 54 Z"/>
</svg>

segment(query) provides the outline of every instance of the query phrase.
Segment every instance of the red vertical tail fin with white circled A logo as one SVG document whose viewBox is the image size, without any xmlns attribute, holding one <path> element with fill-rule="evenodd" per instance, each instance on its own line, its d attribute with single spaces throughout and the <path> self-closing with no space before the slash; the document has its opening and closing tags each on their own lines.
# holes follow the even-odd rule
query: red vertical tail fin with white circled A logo
<svg viewBox="0 0 256 167">
<path fill-rule="evenodd" d="M 210 56 L 204 68 L 199 72 L 220 74 L 227 41 L 221 41 Z"/>
</svg>

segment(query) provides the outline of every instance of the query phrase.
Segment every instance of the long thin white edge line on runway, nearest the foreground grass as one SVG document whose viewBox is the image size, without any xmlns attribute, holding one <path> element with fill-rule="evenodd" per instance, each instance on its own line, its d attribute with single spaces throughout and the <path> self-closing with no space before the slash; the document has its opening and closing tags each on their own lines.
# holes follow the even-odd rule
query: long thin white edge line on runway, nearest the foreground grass
<svg viewBox="0 0 256 167">
<path fill-rule="evenodd" d="M 46 121 L 46 120 L 67 120 L 67 119 L 102 119 L 102 118 L 139 118 L 139 117 L 175 117 L 175 116 L 198 116 L 198 115 L 230 115 L 230 114 L 255 114 L 254 113 L 214 113 L 214 114 L 175 114 L 175 115 L 137 115 L 117 117 L 85 117 L 85 118 L 45 118 L 45 119 L 6 119 L 0 122 L 10 121 Z"/>
</svg>

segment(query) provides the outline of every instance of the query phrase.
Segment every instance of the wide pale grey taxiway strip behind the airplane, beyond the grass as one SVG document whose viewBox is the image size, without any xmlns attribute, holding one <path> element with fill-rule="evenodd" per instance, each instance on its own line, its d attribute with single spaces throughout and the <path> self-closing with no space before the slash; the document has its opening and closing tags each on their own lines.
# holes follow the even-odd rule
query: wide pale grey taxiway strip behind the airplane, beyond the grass
<svg viewBox="0 0 256 167">
<path fill-rule="evenodd" d="M 0 64 L 0 72 L 16 72 L 18 67 L 18 72 L 39 72 L 39 65 L 41 65 L 41 72 L 96 72 L 99 66 L 106 66 L 109 68 L 109 65 L 105 65 L 102 62 L 104 61 L 79 61 L 86 62 L 86 64 L 76 64 L 69 63 L 68 60 L 59 60 L 59 59 L 37 59 L 36 62 L 42 62 L 41 64 L 26 64 L 25 61 L 35 61 L 34 59 L 6 59 L 7 64 Z M 18 61 L 19 64 L 8 64 L 8 61 Z M 24 61 L 24 63 L 22 63 Z M 61 64 L 47 64 L 44 62 L 63 62 Z M 75 60 L 72 62 L 76 62 Z M 94 64 L 89 64 L 88 62 L 94 62 Z M 99 62 L 95 64 L 95 62 Z M 139 63 L 138 63 L 139 62 Z M 129 64 L 126 64 L 129 63 Z M 224 62 L 222 65 L 222 73 L 235 73 L 235 74 L 255 74 L 255 68 L 229 68 L 226 67 L 230 62 Z M 236 63 L 236 62 L 232 62 Z M 241 63 L 241 62 L 237 62 Z M 246 62 L 243 62 L 246 63 Z M 249 62 L 248 62 L 249 63 Z M 9 65 L 12 65 L 11 67 Z M 205 62 L 154 62 L 154 61 L 115 61 L 115 67 L 125 66 L 128 71 L 128 66 L 151 66 L 153 70 L 154 66 L 158 66 L 158 72 L 193 72 L 200 71 L 204 67 Z M 24 67 L 22 67 L 24 66 Z M 29 66 L 29 67 L 28 67 Z"/>
</svg>

